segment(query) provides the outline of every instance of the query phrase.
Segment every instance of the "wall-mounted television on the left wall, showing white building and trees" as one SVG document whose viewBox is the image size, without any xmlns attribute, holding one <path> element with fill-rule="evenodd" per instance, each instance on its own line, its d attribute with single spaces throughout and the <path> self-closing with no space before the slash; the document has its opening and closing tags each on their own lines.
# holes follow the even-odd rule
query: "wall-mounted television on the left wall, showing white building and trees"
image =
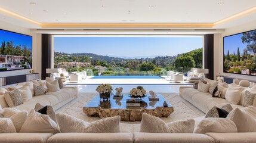
<svg viewBox="0 0 256 143">
<path fill-rule="evenodd" d="M 32 68 L 32 36 L 0 29 L 0 71 Z"/>
</svg>

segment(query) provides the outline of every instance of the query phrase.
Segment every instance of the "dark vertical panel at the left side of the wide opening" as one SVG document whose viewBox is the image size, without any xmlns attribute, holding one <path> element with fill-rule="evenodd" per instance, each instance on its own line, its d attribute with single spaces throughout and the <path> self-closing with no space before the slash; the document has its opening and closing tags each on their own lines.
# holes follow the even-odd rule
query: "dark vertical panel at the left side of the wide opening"
<svg viewBox="0 0 256 143">
<path fill-rule="evenodd" d="M 42 34 L 42 79 L 49 76 L 46 69 L 51 68 L 51 35 Z"/>
</svg>

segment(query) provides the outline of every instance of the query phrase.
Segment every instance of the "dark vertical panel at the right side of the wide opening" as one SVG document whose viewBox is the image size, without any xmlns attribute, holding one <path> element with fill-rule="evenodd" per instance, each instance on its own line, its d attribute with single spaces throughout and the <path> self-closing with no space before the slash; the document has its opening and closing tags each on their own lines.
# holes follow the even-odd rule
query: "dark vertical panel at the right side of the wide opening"
<svg viewBox="0 0 256 143">
<path fill-rule="evenodd" d="M 208 79 L 214 79 L 214 35 L 204 36 L 204 68 L 209 69 L 209 73 L 205 74 Z"/>
</svg>

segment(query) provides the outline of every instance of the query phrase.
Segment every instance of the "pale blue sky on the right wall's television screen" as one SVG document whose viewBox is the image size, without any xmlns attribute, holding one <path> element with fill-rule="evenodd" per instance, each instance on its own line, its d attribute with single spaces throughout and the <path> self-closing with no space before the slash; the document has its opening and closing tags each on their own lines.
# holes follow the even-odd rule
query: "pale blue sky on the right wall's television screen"
<svg viewBox="0 0 256 143">
<path fill-rule="evenodd" d="M 227 50 L 229 50 L 229 54 L 234 53 L 238 54 L 238 47 L 239 47 L 239 51 L 240 51 L 240 55 L 243 54 L 243 49 L 246 49 L 246 45 L 248 43 L 242 43 L 242 39 L 241 37 L 243 36 L 242 33 L 238 34 L 238 35 L 232 35 L 232 36 L 227 36 L 224 38 L 223 43 L 224 43 L 224 54 L 227 54 Z M 248 54 L 251 53 L 248 51 Z"/>
</svg>

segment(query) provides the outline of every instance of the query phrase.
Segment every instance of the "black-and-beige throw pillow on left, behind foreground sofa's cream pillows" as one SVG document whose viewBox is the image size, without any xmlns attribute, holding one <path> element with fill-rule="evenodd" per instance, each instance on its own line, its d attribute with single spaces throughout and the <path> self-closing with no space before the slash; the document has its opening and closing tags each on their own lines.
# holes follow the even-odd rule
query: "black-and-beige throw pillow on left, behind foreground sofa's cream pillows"
<svg viewBox="0 0 256 143">
<path fill-rule="evenodd" d="M 52 120 L 54 120 L 54 122 L 56 122 L 55 111 L 52 106 L 50 105 L 44 106 L 39 103 L 36 103 L 34 109 L 35 111 L 38 111 L 41 114 L 47 114 L 48 116 L 50 116 Z"/>
</svg>

